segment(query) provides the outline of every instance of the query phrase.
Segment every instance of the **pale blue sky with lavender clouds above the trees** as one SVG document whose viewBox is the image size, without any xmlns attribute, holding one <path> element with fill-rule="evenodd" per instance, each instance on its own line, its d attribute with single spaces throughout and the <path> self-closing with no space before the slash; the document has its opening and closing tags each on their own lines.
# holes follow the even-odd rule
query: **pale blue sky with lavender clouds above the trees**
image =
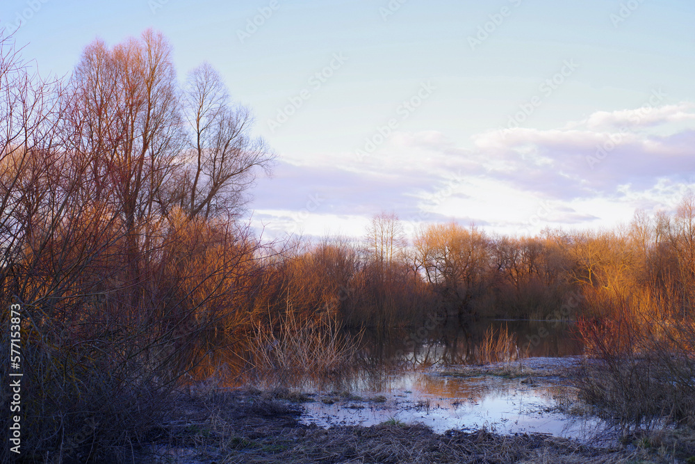
<svg viewBox="0 0 695 464">
<path fill-rule="evenodd" d="M 181 80 L 211 63 L 278 155 L 250 203 L 265 237 L 357 237 L 382 211 L 410 234 L 672 211 L 695 189 L 692 24 L 692 0 L 0 4 L 42 74 L 149 27 Z"/>
</svg>

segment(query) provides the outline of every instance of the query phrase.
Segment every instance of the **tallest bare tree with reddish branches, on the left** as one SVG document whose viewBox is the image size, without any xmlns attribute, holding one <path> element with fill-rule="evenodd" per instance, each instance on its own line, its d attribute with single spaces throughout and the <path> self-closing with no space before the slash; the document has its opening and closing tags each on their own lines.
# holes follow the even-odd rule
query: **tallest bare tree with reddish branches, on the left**
<svg viewBox="0 0 695 464">
<path fill-rule="evenodd" d="M 177 170 L 181 118 L 167 40 L 152 30 L 109 49 L 85 48 L 72 77 L 70 151 L 88 160 L 85 196 L 122 217 L 126 280 L 137 289 L 156 248 L 158 199 Z M 133 291 L 133 306 L 142 297 Z"/>
</svg>

